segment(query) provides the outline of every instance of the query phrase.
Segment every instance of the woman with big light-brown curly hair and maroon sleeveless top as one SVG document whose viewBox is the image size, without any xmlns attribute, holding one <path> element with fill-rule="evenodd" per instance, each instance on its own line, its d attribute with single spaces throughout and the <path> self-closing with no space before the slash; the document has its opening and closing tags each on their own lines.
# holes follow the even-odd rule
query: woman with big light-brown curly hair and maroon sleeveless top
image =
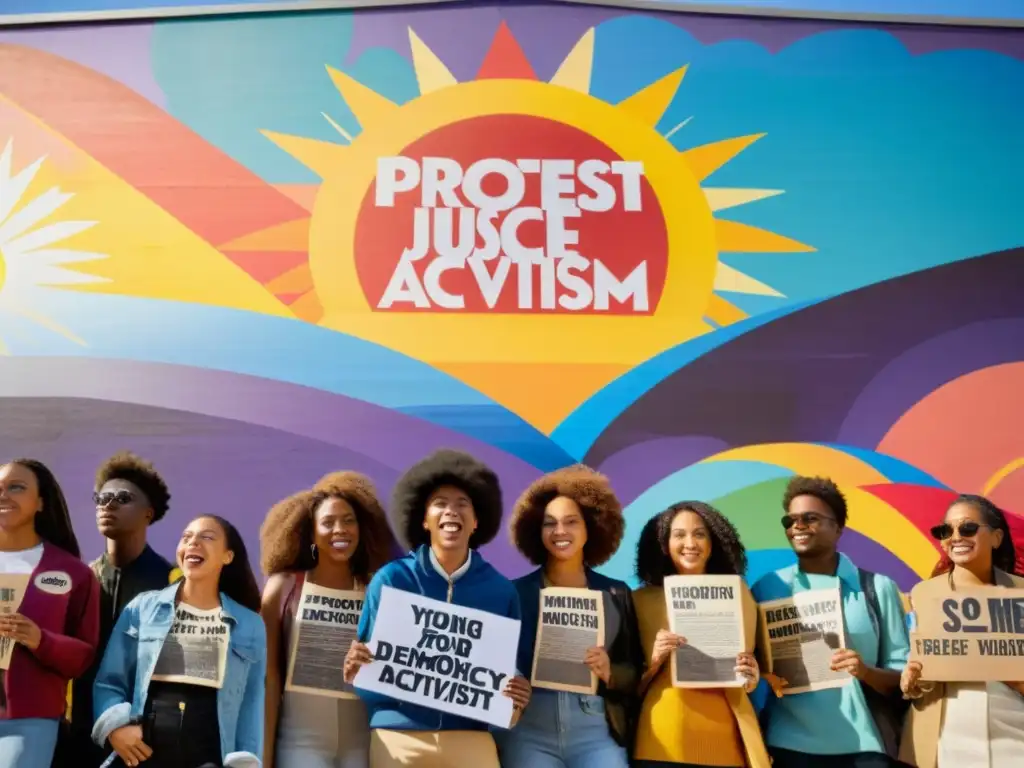
<svg viewBox="0 0 1024 768">
<path fill-rule="evenodd" d="M 356 472 L 327 475 L 263 521 L 265 768 L 366 768 L 367 711 L 341 667 L 358 626 L 354 608 L 392 543 L 373 482 Z"/>
</svg>

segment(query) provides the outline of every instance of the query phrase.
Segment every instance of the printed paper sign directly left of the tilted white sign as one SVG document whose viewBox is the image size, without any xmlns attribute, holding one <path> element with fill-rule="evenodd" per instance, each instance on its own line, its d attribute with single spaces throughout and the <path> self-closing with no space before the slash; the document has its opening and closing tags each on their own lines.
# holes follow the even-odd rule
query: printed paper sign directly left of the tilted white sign
<svg viewBox="0 0 1024 768">
<path fill-rule="evenodd" d="M 344 679 L 344 659 L 362 614 L 362 593 L 302 583 L 292 630 L 285 690 L 355 698 Z"/>
</svg>

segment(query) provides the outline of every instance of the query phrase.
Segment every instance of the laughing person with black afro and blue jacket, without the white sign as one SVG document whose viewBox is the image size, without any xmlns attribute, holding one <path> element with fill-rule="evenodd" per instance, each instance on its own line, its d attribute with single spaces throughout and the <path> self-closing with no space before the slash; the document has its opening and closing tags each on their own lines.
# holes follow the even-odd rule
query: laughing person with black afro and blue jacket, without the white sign
<svg viewBox="0 0 1024 768">
<path fill-rule="evenodd" d="M 377 571 L 367 588 L 358 642 L 345 657 L 349 682 L 373 660 L 366 643 L 385 586 L 519 618 L 512 583 L 477 551 L 495 538 L 502 521 L 501 485 L 490 468 L 468 454 L 438 451 L 398 479 L 391 515 L 396 535 L 412 551 Z M 356 690 L 370 710 L 371 768 L 499 768 L 485 724 Z M 529 683 L 516 676 L 503 693 L 521 713 L 529 701 Z"/>
</svg>

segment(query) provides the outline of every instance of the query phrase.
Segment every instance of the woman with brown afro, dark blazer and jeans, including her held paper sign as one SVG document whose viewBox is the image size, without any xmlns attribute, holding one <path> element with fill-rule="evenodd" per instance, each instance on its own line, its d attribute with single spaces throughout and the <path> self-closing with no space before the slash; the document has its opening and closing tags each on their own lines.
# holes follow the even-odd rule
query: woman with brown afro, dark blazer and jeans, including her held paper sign
<svg viewBox="0 0 1024 768">
<path fill-rule="evenodd" d="M 531 671 L 534 695 L 498 736 L 503 768 L 627 768 L 642 666 L 636 613 L 629 587 L 592 569 L 625 527 L 607 478 L 583 466 L 541 477 L 516 503 L 512 540 L 541 567 L 515 581 L 517 664 Z"/>
</svg>

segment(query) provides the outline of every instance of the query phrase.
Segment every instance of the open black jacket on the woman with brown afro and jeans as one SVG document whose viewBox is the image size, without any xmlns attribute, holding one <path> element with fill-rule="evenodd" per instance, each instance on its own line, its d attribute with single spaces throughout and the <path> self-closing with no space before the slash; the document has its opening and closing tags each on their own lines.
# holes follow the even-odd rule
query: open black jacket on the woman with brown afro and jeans
<svg viewBox="0 0 1024 768">
<path fill-rule="evenodd" d="M 637 684 L 643 674 L 643 651 L 640 647 L 636 610 L 633 607 L 633 594 L 625 582 L 601 575 L 590 568 L 586 570 L 587 586 L 604 593 L 606 628 L 612 625 L 618 627 L 614 637 L 604 638 L 604 648 L 608 652 L 608 660 L 611 662 L 611 679 L 608 685 L 603 682 L 598 683 L 597 694 L 604 699 L 605 717 L 612 738 L 621 746 L 630 749 L 636 731 Z M 513 584 L 519 593 L 519 606 L 522 611 L 516 665 L 519 672 L 529 678 L 534 669 L 544 570 L 538 568 L 515 580 Z"/>
</svg>

